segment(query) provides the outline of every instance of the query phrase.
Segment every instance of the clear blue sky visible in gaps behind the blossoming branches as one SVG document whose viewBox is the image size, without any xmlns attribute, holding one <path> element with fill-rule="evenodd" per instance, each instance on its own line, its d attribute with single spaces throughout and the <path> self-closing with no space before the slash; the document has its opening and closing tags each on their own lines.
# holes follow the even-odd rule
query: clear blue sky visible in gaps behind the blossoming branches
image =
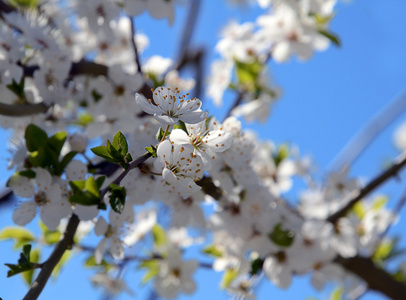
<svg viewBox="0 0 406 300">
<path fill-rule="evenodd" d="M 256 15 L 254 8 L 243 10 L 231 9 L 224 14 L 225 1 L 202 1 L 202 14 L 197 23 L 197 32 L 193 45 L 206 45 L 211 51 L 216 43 L 219 29 L 227 21 L 236 19 L 244 21 Z M 262 139 L 271 139 L 277 143 L 289 142 L 299 146 L 302 154 L 311 155 L 319 167 L 319 174 L 347 141 L 383 107 L 397 95 L 406 90 L 406 2 L 402 0 L 372 0 L 340 3 L 337 16 L 331 23 L 331 30 L 342 40 L 342 47 L 330 47 L 326 52 L 315 53 L 306 63 L 295 59 L 285 64 L 270 64 L 270 72 L 276 84 L 283 89 L 280 101 L 275 105 L 271 118 L 266 124 L 247 124 L 247 128 L 258 131 Z M 161 54 L 171 56 L 176 53 L 174 36 L 183 26 L 184 13 L 177 11 L 176 22 L 167 28 L 166 20 L 153 21 L 144 14 L 136 19 L 137 29 L 151 36 L 150 48 L 145 56 Z M 213 54 L 208 59 L 213 58 Z M 206 67 L 206 71 L 208 71 Z M 230 99 L 229 99 L 230 101 Z M 209 101 L 203 99 L 206 109 L 214 112 Z M 228 102 L 230 103 L 230 102 Z M 224 111 L 227 109 L 225 99 Z M 221 118 L 224 111 L 216 111 Z M 392 144 L 393 130 L 405 114 L 394 122 L 372 143 L 371 147 L 356 161 L 351 173 L 362 178 L 371 178 L 382 170 L 389 159 L 398 152 Z M 4 140 L 6 132 L 0 131 Z M 9 157 L 5 143 L 0 145 L 1 181 L 6 181 L 6 158 Z M 401 174 L 404 178 L 405 172 Z M 397 201 L 402 191 L 401 184 L 391 181 L 381 190 L 388 194 L 392 203 Z M 299 192 L 294 190 L 292 201 Z M 0 210 L 0 227 L 10 225 L 11 209 Z M 34 222 L 35 223 L 35 222 Z M 35 225 L 35 224 L 34 224 Z M 401 222 L 392 233 L 401 233 L 405 228 Z M 31 226 L 32 228 L 35 226 Z M 406 245 L 405 241 L 402 242 Z M 11 243 L 0 242 L 2 256 L 0 264 L 0 297 L 4 300 L 21 299 L 26 287 L 18 276 L 6 279 L 3 263 L 14 263 L 18 253 L 11 250 Z M 84 255 L 72 260 L 57 281 L 50 281 L 40 299 L 100 299 L 100 291 L 94 293 L 88 278 L 93 274 L 81 267 Z M 136 291 L 138 299 L 146 299 L 140 289 L 139 276 L 130 275 L 134 266 L 128 271 L 128 284 Z M 221 274 L 201 270 L 196 274 L 197 293 L 180 299 L 228 299 L 218 289 Z M 273 287 L 264 280 L 258 287 L 258 299 L 307 299 L 316 296 L 325 299 L 327 291 L 321 294 L 309 286 L 308 278 L 298 278 L 287 291 Z M 148 289 L 144 289 L 148 290 Z M 130 299 L 123 295 L 118 299 Z M 383 299 L 367 294 L 363 299 Z"/>
</svg>

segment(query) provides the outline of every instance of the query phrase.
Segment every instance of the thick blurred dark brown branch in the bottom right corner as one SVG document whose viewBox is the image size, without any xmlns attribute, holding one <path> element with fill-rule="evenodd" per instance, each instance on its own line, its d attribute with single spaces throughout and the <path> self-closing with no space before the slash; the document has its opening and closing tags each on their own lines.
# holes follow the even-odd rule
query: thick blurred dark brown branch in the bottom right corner
<svg viewBox="0 0 406 300">
<path fill-rule="evenodd" d="M 377 268 L 371 259 L 361 256 L 350 258 L 338 256 L 334 262 L 361 277 L 368 284 L 369 289 L 383 293 L 394 300 L 406 299 L 406 285 L 394 280 L 386 271 Z"/>
</svg>

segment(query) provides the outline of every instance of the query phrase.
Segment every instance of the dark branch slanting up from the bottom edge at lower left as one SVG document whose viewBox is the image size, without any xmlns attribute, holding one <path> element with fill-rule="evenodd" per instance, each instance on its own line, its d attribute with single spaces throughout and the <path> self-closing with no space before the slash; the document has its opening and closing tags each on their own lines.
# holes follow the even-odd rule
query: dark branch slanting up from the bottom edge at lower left
<svg viewBox="0 0 406 300">
<path fill-rule="evenodd" d="M 71 249 L 73 245 L 73 237 L 75 235 L 76 229 L 79 225 L 79 218 L 77 215 L 73 214 L 66 227 L 65 234 L 62 240 L 56 245 L 51 256 L 43 263 L 41 271 L 39 272 L 37 278 L 31 285 L 31 288 L 23 298 L 23 300 L 34 300 L 37 299 L 45 287 L 48 278 L 51 276 L 52 271 L 55 266 L 61 260 L 62 255 L 66 250 Z"/>
</svg>

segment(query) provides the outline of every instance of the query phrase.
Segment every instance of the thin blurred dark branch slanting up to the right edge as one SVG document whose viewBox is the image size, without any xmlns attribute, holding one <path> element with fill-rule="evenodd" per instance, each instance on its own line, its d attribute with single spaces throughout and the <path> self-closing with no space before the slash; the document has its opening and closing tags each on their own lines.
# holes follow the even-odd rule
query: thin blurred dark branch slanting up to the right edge
<svg viewBox="0 0 406 300">
<path fill-rule="evenodd" d="M 346 215 L 348 210 L 350 210 L 358 201 L 368 195 L 370 192 L 375 190 L 381 184 L 386 182 L 389 178 L 396 176 L 398 172 L 406 165 L 406 153 L 404 153 L 400 158 L 397 159 L 397 162 L 393 164 L 390 168 L 386 171 L 375 177 L 370 183 L 368 183 L 365 187 L 359 190 L 357 195 L 352 198 L 346 205 L 344 205 L 341 209 L 336 211 L 334 214 L 330 215 L 327 218 L 328 222 L 335 223 L 339 218 Z"/>
</svg>

